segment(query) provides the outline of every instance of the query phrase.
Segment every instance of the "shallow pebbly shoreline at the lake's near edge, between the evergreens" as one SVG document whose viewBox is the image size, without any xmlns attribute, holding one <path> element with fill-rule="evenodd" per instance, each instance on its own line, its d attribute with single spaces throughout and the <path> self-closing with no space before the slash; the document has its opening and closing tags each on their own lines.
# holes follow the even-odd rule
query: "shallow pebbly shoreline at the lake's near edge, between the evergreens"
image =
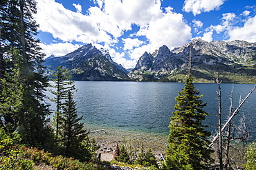
<svg viewBox="0 0 256 170">
<path fill-rule="evenodd" d="M 104 131 L 89 134 L 89 138 L 95 140 L 99 147 L 97 153 L 101 154 L 101 160 L 112 160 L 113 151 L 117 144 L 132 144 L 139 152 L 140 146 L 143 143 L 145 150 L 147 151 L 147 149 L 151 148 L 156 156 L 165 154 L 166 151 L 168 136 L 164 134 L 150 134 L 143 131 L 138 132 L 125 129 L 114 129 L 112 127 L 100 127 L 95 125 L 89 125 L 86 128 L 89 131 L 104 129 Z"/>
</svg>

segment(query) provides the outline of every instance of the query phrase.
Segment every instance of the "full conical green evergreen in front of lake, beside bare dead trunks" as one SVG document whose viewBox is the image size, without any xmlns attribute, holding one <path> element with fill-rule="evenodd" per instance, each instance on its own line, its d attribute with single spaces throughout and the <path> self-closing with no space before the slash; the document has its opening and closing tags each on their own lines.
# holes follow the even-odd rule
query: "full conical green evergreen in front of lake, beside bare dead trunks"
<svg viewBox="0 0 256 170">
<path fill-rule="evenodd" d="M 210 132 L 205 130 L 202 121 L 208 114 L 203 111 L 203 95 L 194 88 L 192 75 L 189 74 L 185 87 L 175 100 L 177 104 L 170 122 L 167 159 L 165 169 L 207 169 L 210 162 L 208 148 Z"/>
</svg>

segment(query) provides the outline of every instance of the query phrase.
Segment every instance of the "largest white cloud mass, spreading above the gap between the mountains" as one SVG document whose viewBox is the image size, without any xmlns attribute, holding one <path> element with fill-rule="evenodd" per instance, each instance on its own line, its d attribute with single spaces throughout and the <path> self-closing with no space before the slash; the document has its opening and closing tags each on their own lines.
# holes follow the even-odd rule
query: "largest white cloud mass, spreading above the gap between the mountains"
<svg viewBox="0 0 256 170">
<path fill-rule="evenodd" d="M 93 2 L 96 6 L 87 9 L 87 14 L 82 14 L 80 4 L 73 3 L 76 9 L 76 12 L 73 12 L 54 0 L 38 1 L 35 19 L 40 25 L 39 30 L 49 32 L 55 39 L 63 42 L 102 45 L 111 52 L 113 60 L 121 64 L 127 62 L 129 67 L 132 64 L 135 66 L 136 60 L 145 50 L 149 51 L 149 48 L 150 51 L 154 51 L 162 45 L 167 45 L 172 49 L 192 37 L 191 28 L 184 21 L 183 14 L 174 12 L 171 7 L 163 9 L 161 0 Z M 198 21 L 197 24 L 200 26 L 201 23 Z M 135 32 L 134 36 L 126 38 L 124 34 L 132 30 L 132 25 L 137 25 L 139 31 Z M 145 37 L 146 41 L 139 40 L 138 36 Z M 115 54 L 113 48 L 117 43 L 124 43 L 126 54 Z M 52 46 L 53 44 L 42 47 L 48 50 Z"/>
</svg>

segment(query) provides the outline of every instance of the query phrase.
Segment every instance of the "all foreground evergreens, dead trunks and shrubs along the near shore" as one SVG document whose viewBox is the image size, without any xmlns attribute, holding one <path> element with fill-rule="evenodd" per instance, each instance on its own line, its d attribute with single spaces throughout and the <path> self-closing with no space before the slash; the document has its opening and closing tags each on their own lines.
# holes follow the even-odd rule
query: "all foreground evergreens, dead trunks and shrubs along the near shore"
<svg viewBox="0 0 256 170">
<path fill-rule="evenodd" d="M 184 88 L 175 98 L 164 160 L 156 160 L 152 150 L 143 145 L 131 154 L 129 146 L 121 143 L 113 162 L 100 161 L 97 145 L 89 138 L 91 131 L 84 129 L 77 114 L 75 86 L 68 70 L 60 65 L 51 79 L 44 76 L 45 55 L 35 39 L 39 27 L 33 19 L 36 12 L 34 0 L 0 1 L 0 169 L 121 169 L 111 165 L 120 162 L 134 169 L 256 169 L 255 142 L 242 146 L 240 143 L 248 140 L 246 133 L 235 138 L 231 135 L 232 116 L 239 108 L 231 104 L 230 120 L 221 120 L 223 78 L 218 75 L 219 133 L 214 136 L 205 130 L 206 103 L 193 85 L 191 67 Z M 54 95 L 54 113 L 46 104 L 48 88 Z M 234 140 L 239 145 L 234 145 Z M 245 164 L 233 162 L 233 147 L 244 150 L 241 157 Z"/>
</svg>

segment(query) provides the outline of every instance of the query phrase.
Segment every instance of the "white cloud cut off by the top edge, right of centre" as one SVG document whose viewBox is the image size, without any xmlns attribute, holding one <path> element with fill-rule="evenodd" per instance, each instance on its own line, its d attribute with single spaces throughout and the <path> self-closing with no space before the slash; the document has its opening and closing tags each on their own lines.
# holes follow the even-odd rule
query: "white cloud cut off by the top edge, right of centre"
<svg viewBox="0 0 256 170">
<path fill-rule="evenodd" d="M 224 1 L 226 0 L 185 0 L 183 11 L 192 12 L 196 16 L 196 14 L 201 14 L 202 12 L 219 10 Z"/>
</svg>

